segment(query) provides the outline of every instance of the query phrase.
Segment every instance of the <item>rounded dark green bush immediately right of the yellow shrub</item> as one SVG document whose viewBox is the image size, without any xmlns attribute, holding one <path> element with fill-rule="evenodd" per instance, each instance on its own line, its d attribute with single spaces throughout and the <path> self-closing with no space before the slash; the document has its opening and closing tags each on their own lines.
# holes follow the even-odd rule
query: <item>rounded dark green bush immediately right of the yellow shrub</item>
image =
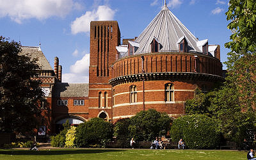
<svg viewBox="0 0 256 160">
<path fill-rule="evenodd" d="M 92 118 L 76 129 L 76 147 L 105 147 L 113 136 L 113 125 L 102 118 Z"/>
</svg>

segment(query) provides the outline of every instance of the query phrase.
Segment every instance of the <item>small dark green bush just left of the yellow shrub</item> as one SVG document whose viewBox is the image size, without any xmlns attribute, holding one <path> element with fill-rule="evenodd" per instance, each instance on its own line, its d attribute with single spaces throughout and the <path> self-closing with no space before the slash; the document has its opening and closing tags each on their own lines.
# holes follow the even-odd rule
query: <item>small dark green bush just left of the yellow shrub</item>
<svg viewBox="0 0 256 160">
<path fill-rule="evenodd" d="M 66 134 L 68 130 L 70 129 L 69 121 L 65 124 L 63 124 L 64 129 L 60 132 L 60 134 L 57 134 L 56 136 L 51 136 L 51 145 L 52 147 L 65 147 L 66 142 Z"/>
</svg>

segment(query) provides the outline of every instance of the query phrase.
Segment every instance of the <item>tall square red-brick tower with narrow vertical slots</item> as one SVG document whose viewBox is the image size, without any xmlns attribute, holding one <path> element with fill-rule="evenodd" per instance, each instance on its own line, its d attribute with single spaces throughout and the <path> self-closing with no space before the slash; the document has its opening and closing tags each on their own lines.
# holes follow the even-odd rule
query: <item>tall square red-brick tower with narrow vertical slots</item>
<svg viewBox="0 0 256 160">
<path fill-rule="evenodd" d="M 89 118 L 112 120 L 111 65 L 120 45 L 117 21 L 92 21 L 90 24 Z"/>
</svg>

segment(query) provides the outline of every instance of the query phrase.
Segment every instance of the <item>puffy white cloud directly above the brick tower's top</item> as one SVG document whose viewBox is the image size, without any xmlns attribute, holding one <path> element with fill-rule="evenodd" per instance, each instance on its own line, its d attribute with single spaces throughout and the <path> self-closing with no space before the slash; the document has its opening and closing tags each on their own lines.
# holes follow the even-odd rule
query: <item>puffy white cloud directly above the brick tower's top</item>
<svg viewBox="0 0 256 160">
<path fill-rule="evenodd" d="M 116 10 L 111 10 L 108 6 L 98 6 L 97 10 L 88 11 L 81 17 L 71 22 L 71 32 L 87 33 L 90 31 L 90 22 L 92 20 L 113 20 Z"/>
</svg>

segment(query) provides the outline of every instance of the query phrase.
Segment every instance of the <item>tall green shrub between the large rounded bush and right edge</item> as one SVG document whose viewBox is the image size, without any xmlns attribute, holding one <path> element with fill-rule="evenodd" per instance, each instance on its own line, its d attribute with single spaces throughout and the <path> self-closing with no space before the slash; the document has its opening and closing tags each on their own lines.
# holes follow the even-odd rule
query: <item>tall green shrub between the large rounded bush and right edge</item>
<svg viewBox="0 0 256 160">
<path fill-rule="evenodd" d="M 255 129 L 255 112 L 244 111 L 241 108 L 240 93 L 237 88 L 223 86 L 213 92 L 209 110 L 212 117 L 218 120 L 220 131 L 227 140 L 241 142 L 247 138 L 246 131 Z"/>
</svg>

